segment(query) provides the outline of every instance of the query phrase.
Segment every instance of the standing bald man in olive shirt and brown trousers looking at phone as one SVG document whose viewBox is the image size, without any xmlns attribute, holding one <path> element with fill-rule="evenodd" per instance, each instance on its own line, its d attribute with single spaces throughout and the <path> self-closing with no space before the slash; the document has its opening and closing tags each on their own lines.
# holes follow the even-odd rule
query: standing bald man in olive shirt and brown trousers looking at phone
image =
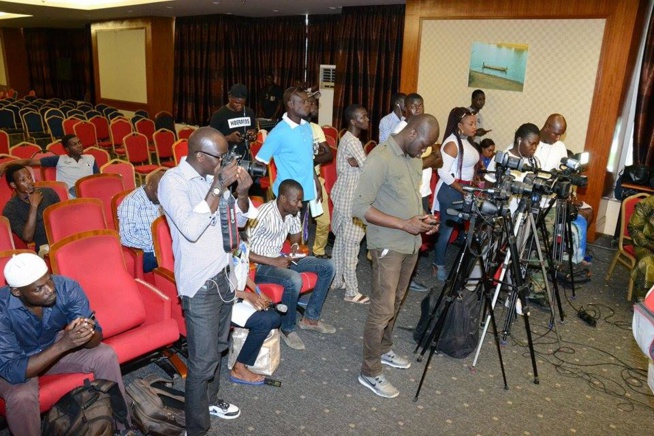
<svg viewBox="0 0 654 436">
<path fill-rule="evenodd" d="M 432 115 L 413 117 L 401 132 L 368 155 L 354 194 L 352 215 L 368 226 L 373 269 L 359 383 L 380 397 L 399 395 L 382 374 L 382 364 L 411 366 L 392 350 L 393 326 L 418 260 L 420 233 L 438 230 L 434 216 L 424 214 L 419 192 L 420 156 L 436 143 L 438 135 L 438 121 Z"/>
</svg>

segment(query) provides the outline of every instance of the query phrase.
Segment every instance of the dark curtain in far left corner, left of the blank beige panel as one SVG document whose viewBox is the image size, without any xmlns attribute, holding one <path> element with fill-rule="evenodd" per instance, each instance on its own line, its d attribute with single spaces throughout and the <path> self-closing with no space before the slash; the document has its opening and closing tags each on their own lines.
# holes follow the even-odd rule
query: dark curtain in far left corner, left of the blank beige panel
<svg viewBox="0 0 654 436">
<path fill-rule="evenodd" d="M 31 88 L 38 97 L 91 100 L 89 29 L 24 29 Z"/>
</svg>

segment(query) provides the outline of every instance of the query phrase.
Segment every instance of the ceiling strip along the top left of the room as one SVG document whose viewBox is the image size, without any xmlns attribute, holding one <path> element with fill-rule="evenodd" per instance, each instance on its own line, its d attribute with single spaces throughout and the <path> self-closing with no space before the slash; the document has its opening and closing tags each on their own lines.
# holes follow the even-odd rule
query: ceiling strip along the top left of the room
<svg viewBox="0 0 654 436">
<path fill-rule="evenodd" d="M 41 0 L 48 5 L 50 0 Z M 33 15 L 0 20 L 0 27 L 83 27 L 87 23 L 136 17 L 183 17 L 234 14 L 268 17 L 304 14 L 335 14 L 343 6 L 404 4 L 405 0 L 170 0 L 159 3 L 95 11 L 30 6 L 0 1 L 0 11 Z"/>
</svg>

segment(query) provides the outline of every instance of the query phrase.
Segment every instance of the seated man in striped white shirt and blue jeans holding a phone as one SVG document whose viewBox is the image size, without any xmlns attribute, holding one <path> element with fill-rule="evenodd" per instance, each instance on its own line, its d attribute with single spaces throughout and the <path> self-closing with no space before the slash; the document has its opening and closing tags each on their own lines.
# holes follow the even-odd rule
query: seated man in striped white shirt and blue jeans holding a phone
<svg viewBox="0 0 654 436">
<path fill-rule="evenodd" d="M 304 257 L 298 248 L 302 237 L 299 212 L 304 192 L 292 179 L 279 185 L 279 196 L 259 208 L 259 215 L 250 229 L 250 260 L 257 264 L 255 281 L 284 286 L 282 303 L 288 312 L 282 316 L 282 339 L 295 350 L 304 350 L 302 339 L 295 332 L 297 300 L 302 289 L 302 272 L 314 272 L 318 282 L 311 294 L 304 318 L 299 322 L 303 330 L 335 333 L 336 329 L 320 321 L 322 305 L 334 280 L 334 264 L 329 259 Z M 286 238 L 291 242 L 291 253 L 283 254 Z"/>
</svg>

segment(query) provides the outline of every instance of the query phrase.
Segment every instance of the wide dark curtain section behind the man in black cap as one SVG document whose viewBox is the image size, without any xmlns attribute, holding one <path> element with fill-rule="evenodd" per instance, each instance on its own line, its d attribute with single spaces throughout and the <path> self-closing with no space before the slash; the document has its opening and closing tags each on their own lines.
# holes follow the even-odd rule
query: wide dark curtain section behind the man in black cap
<svg viewBox="0 0 654 436">
<path fill-rule="evenodd" d="M 173 111 L 179 122 L 206 125 L 227 102 L 235 83 L 248 88 L 256 108 L 265 75 L 282 87 L 304 75 L 306 26 L 302 16 L 181 17 L 175 23 Z"/>
</svg>

